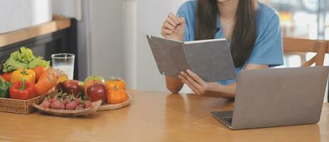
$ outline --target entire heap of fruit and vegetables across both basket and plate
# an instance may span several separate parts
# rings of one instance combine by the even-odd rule
[[[49,61],[35,57],[31,49],[22,47],[11,53],[4,62],[0,75],[0,97],[32,99],[56,89],[56,96],[46,97],[44,108],[77,110],[102,104],[119,104],[127,101],[125,81],[113,78],[104,80],[100,76],[89,76],[84,82],[68,80],[67,75],[49,66]]]

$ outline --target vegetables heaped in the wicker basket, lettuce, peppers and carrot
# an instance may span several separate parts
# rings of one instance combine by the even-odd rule
[[[0,75],[0,97],[11,99],[26,100],[46,94],[63,74],[25,47],[11,53],[3,66],[5,73]]]

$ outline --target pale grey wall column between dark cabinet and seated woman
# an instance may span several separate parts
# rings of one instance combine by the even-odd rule
[[[137,1],[83,1],[78,22],[80,78],[121,77],[136,89]]]

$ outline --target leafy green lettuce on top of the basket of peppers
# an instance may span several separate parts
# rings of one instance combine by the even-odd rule
[[[21,47],[18,51],[11,53],[10,57],[4,62],[3,72],[11,72],[19,68],[33,69],[36,66],[49,67],[49,61],[42,57],[35,57],[29,48]]]

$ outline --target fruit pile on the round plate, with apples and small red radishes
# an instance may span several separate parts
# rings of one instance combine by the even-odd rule
[[[41,107],[50,109],[78,110],[92,106],[92,102],[102,104],[119,104],[128,99],[125,82],[120,79],[104,80],[100,76],[90,76],[84,82],[61,79],[56,84],[56,95],[46,97]]]

